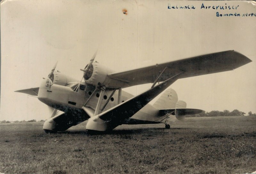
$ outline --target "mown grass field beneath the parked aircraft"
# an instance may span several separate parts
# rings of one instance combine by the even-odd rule
[[[0,124],[2,173],[252,173],[256,116],[122,125],[87,135],[82,123],[45,134],[43,122]]]

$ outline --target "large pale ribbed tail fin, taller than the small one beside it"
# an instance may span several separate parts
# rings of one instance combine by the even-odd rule
[[[152,105],[156,109],[175,108],[178,101],[178,95],[172,88],[164,91],[164,94]]]

